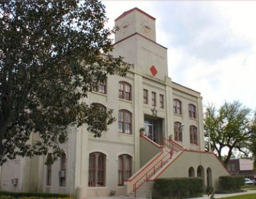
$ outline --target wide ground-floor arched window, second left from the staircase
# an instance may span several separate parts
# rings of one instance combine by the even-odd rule
[[[89,155],[89,187],[105,186],[105,165],[106,156],[100,152],[90,153]]]

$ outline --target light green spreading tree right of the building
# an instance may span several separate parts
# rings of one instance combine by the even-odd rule
[[[237,101],[225,102],[219,111],[212,105],[206,108],[206,137],[209,133],[211,149],[217,152],[224,164],[228,163],[234,150],[248,155],[248,144],[254,132],[252,124],[255,122],[255,118],[250,118],[250,112],[250,109]],[[224,150],[228,150],[228,155],[222,155]]]

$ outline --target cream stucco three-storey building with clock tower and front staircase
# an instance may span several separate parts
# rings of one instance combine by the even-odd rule
[[[131,68],[126,77],[109,76],[84,100],[113,109],[116,122],[101,138],[86,126],[69,128],[66,155],[52,166],[44,165],[43,156],[6,162],[1,190],[93,198],[111,191],[138,196],[145,189],[150,198],[155,178],[201,176],[217,189],[219,176],[228,175],[213,153],[204,152],[200,93],[167,76],[167,48],[156,43],[155,18],[133,8],[115,23],[120,30],[113,55]]]

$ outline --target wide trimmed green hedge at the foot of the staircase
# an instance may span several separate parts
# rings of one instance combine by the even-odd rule
[[[195,198],[204,191],[202,178],[159,178],[155,180],[153,198]]]

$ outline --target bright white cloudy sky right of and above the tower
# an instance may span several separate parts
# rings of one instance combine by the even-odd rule
[[[203,104],[239,100],[256,109],[256,1],[103,1],[109,27],[138,7],[156,18],[169,77]]]

